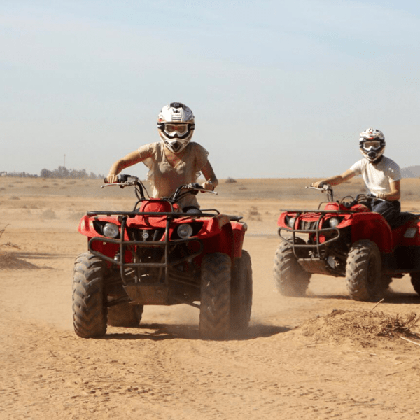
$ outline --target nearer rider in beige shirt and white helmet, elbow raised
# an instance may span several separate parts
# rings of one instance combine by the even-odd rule
[[[214,190],[218,180],[207,160],[209,152],[200,144],[192,142],[195,128],[194,114],[188,106],[172,102],[162,108],[158,116],[158,133],[161,141],[140,146],[113,163],[106,177],[109,183],[117,182],[117,174],[126,167],[144,162],[148,167],[148,181],[153,188],[153,197],[169,197],[183,184],[195,183],[200,172],[206,181],[202,187]],[[179,204],[200,207],[195,195],[184,196]]]

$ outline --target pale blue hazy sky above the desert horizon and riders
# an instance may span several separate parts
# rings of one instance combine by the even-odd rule
[[[0,0],[0,27],[0,171],[107,174],[168,102],[219,178],[344,172],[367,127],[420,165],[418,0]]]

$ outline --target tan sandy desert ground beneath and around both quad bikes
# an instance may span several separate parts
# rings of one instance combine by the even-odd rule
[[[244,216],[253,265],[249,329],[209,342],[186,306],[148,306],[139,328],[77,337],[71,277],[86,248],[78,219],[130,210],[132,190],[0,178],[0,244],[19,246],[8,251],[21,261],[0,267],[0,419],[419,419],[420,346],[398,331],[378,335],[419,311],[407,276],[377,306],[349,300],[344,279],[328,276],[314,276],[307,297],[274,290],[276,219],[280,209],[316,208],[321,195],[304,189],[309,182],[222,181],[219,195],[200,195],[204,208]],[[403,209],[420,208],[419,184],[403,181]],[[356,179],[336,194],[360,189]]]

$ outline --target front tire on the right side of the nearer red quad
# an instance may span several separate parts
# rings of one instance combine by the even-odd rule
[[[230,256],[206,255],[201,267],[200,337],[225,339],[230,327]]]

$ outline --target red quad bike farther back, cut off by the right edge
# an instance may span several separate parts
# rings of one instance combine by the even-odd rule
[[[328,193],[328,202],[313,211],[282,210],[279,216],[282,243],[274,259],[274,283],[282,295],[303,296],[311,274],[324,274],[345,277],[351,299],[377,301],[393,278],[406,273],[420,295],[418,214],[402,212],[391,229],[381,214],[362,204],[376,197],[333,201],[331,186],[313,189]]]

